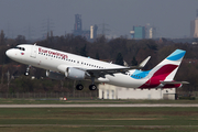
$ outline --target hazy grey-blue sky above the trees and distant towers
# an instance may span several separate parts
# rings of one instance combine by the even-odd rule
[[[6,36],[42,37],[73,33],[75,14],[81,14],[82,30],[102,23],[109,36],[130,36],[134,25],[156,29],[157,37],[189,37],[198,0],[0,0],[0,30]],[[50,23],[50,24],[47,24]]]

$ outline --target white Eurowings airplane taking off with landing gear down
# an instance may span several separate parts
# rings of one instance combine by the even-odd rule
[[[52,79],[91,80],[90,90],[96,90],[95,81],[127,88],[179,88],[187,81],[175,81],[174,77],[186,51],[176,50],[151,70],[141,70],[151,56],[143,61],[138,69],[97,61],[90,57],[52,50],[36,44],[20,44],[6,52],[11,59],[31,66],[46,69],[46,76]],[[77,90],[82,90],[79,82]]]

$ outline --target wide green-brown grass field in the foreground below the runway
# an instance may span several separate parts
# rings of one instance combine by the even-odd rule
[[[0,131],[196,132],[198,108],[3,108]]]

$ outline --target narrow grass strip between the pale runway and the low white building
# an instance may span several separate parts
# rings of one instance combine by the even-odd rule
[[[68,98],[67,101],[58,99],[16,99],[1,98],[0,105],[67,105],[67,103],[198,103],[198,100],[100,100],[91,98]]]

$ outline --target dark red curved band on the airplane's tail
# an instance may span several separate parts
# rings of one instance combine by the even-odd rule
[[[165,65],[161,67],[155,74],[140,88],[155,88],[161,81],[163,81],[174,69],[176,69],[178,65]]]

